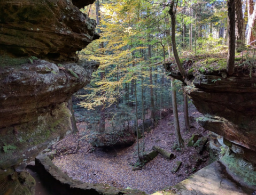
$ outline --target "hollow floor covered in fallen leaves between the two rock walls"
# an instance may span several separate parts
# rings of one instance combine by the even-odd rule
[[[195,118],[201,116],[192,104],[189,113]],[[207,135],[207,131],[199,127],[195,120],[191,124],[194,126],[191,132],[185,132],[182,107],[179,108],[179,117],[181,134],[186,145],[192,134]],[[103,150],[92,148],[87,140],[82,140],[79,143],[79,150],[76,151],[80,134],[88,131],[85,123],[79,123],[77,126],[79,128],[77,135],[69,135],[55,146],[59,155],[53,159],[53,163],[69,176],[83,182],[107,183],[117,188],[129,187],[151,194],[181,182],[208,164],[207,151],[199,155],[193,147],[186,147],[180,151],[172,149],[175,143],[173,113],[162,119],[161,129],[158,125],[150,133],[146,133],[145,150],[150,151],[153,145],[157,145],[173,152],[176,158],[168,160],[159,154],[142,170],[136,171],[131,170],[130,166],[137,160],[136,143],[129,148]],[[142,142],[142,139],[139,142]],[[69,148],[74,154],[61,154]],[[181,167],[176,173],[172,173],[170,170],[176,165],[177,160],[182,161]]]

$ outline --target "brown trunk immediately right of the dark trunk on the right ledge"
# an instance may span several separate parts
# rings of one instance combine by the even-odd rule
[[[242,0],[235,0],[236,6],[236,50],[242,52],[244,47],[244,20]]]

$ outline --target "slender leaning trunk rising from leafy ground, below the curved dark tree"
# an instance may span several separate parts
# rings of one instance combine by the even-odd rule
[[[174,116],[176,142],[177,142],[177,145],[179,145],[179,147],[184,147],[184,143],[183,143],[183,140],[181,137],[181,131],[180,131],[180,123],[179,123],[177,102],[176,102],[176,88],[175,88],[173,77],[171,78],[171,85],[172,85],[172,102],[173,102],[173,116]]]

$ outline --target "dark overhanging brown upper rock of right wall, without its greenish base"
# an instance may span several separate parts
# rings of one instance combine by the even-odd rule
[[[204,115],[201,125],[230,141],[232,150],[253,164],[256,164],[255,83],[254,75],[237,72],[223,78],[213,72],[193,77],[185,87],[193,104]]]

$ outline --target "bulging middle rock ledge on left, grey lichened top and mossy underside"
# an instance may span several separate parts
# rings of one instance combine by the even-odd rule
[[[98,63],[61,66],[35,60],[0,69],[0,145],[14,147],[1,151],[0,168],[26,164],[72,132],[64,102],[90,82]]]

